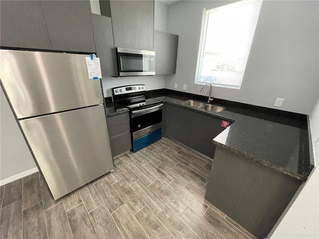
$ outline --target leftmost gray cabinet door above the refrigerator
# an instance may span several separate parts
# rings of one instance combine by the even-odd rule
[[[0,1],[1,46],[52,49],[40,1]]]

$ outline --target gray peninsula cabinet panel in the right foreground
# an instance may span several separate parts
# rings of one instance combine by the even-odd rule
[[[263,239],[300,185],[296,178],[217,146],[205,199]]]

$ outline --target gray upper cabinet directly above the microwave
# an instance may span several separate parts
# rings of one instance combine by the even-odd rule
[[[154,0],[111,0],[115,47],[153,51]]]

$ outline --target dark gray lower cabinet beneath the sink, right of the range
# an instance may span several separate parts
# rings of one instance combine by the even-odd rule
[[[222,119],[165,104],[165,136],[213,158],[216,145],[212,140],[225,128]]]

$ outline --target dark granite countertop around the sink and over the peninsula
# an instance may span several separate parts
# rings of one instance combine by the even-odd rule
[[[220,101],[213,104],[226,109],[213,113],[180,104],[185,100],[194,99],[194,96],[190,98],[171,92],[150,93],[149,96],[167,104],[233,122],[213,139],[213,143],[234,153],[302,181],[307,180],[314,167],[309,151],[307,117],[306,121],[298,117],[291,119],[220,104]]]

